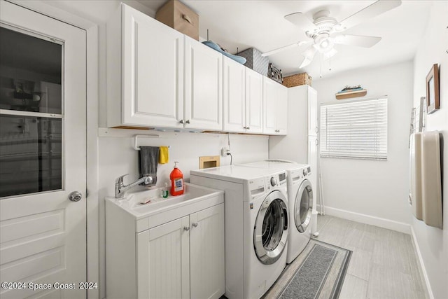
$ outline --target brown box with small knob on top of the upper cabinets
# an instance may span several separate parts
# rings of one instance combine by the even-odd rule
[[[157,13],[155,20],[199,41],[199,15],[179,0],[169,0]]]

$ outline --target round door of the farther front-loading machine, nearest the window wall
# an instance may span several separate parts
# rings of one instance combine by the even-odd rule
[[[313,210],[313,188],[311,183],[304,179],[295,195],[294,222],[299,232],[307,230],[311,222],[311,212]]]

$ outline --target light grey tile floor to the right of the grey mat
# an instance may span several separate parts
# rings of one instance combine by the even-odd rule
[[[410,235],[318,216],[316,239],[353,251],[339,299],[426,299]]]

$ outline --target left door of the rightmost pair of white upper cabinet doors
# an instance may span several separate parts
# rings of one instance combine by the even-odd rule
[[[263,76],[263,133],[276,134],[276,82]]]

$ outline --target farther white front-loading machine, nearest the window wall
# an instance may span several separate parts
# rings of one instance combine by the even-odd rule
[[[311,238],[311,215],[316,204],[311,181],[307,179],[311,174],[311,167],[287,160],[265,160],[241,166],[286,171],[290,211],[286,263],[291,263]]]

